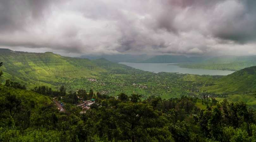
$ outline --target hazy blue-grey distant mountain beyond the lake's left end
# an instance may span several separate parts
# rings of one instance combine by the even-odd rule
[[[101,56],[83,55],[80,58],[88,58],[90,60],[105,58],[111,62],[141,62],[149,59],[150,57],[152,56],[146,55],[146,54],[142,54],[142,55],[116,54],[116,55],[101,55]]]

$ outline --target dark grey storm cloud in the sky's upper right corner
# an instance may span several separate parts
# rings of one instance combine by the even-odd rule
[[[226,1],[216,6],[218,11],[225,8],[229,8],[230,11],[219,12],[220,18],[212,20],[213,23],[218,24],[211,29],[213,35],[240,43],[254,41],[256,38],[256,2],[253,0]]]

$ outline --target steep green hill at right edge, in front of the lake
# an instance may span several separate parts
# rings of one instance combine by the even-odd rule
[[[256,92],[256,66],[244,68],[233,74],[223,76],[215,84],[214,86],[206,87],[206,90],[232,94]]]

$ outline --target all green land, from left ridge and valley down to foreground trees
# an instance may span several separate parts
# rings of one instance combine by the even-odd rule
[[[256,67],[228,76],[155,74],[104,58],[5,54],[0,141],[256,141]],[[76,106],[86,101],[94,103]]]

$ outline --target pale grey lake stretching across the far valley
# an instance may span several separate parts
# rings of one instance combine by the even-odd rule
[[[198,75],[228,75],[234,73],[229,70],[211,70],[211,69],[199,69],[199,68],[180,68],[174,64],[176,63],[132,63],[132,62],[119,62],[132,68],[141,69],[144,71],[150,71],[154,73],[169,72],[169,73],[181,73],[181,74],[198,74]]]

